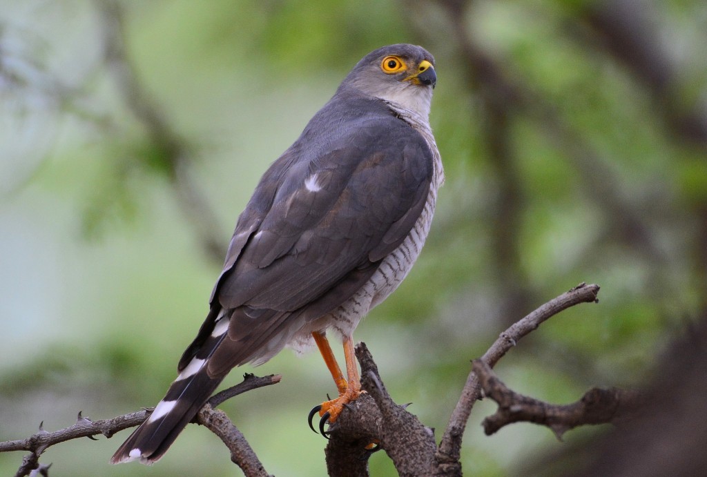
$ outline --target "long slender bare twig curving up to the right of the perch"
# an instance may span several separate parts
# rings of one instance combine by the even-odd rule
[[[542,322],[562,310],[566,310],[579,303],[597,302],[597,293],[599,293],[599,285],[580,283],[580,285],[572,288],[567,293],[563,293],[559,297],[554,298],[554,300],[550,300],[519,322],[511,325],[506,331],[503,331],[501,336],[498,337],[496,342],[493,343],[489,351],[486,351],[481,359],[489,366],[493,367],[493,365],[495,365],[510,348],[513,348],[523,336],[537,329]],[[479,377],[472,371],[467,377],[467,383],[464,384],[462,395],[452,412],[449,424],[440,442],[436,455],[438,465],[437,475],[461,475],[459,458],[462,447],[462,436],[464,435],[464,429],[471,415],[472,407],[479,397],[481,397]]]

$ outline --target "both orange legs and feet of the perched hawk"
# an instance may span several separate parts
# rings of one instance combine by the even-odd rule
[[[344,410],[344,406],[355,401],[361,394],[361,377],[358,375],[358,365],[356,365],[356,356],[354,355],[354,339],[351,336],[344,339],[344,358],[346,359],[346,377],[348,377],[348,382],[346,382],[327,338],[317,332],[312,333],[312,336],[322,353],[324,362],[327,363],[329,372],[334,377],[334,382],[337,383],[337,389],[339,389],[339,397],[323,402],[319,411],[320,416],[325,416],[328,413],[329,423],[334,423],[341,411]]]

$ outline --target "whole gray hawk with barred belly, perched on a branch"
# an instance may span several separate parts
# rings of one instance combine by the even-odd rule
[[[352,334],[410,271],[443,182],[428,122],[436,81],[422,47],[390,45],[358,61],[263,175],[180,374],[113,464],[158,461],[233,367],[285,346],[316,344],[334,377],[339,396],[313,410],[320,429],[358,397]],[[327,331],[343,342],[345,377]]]

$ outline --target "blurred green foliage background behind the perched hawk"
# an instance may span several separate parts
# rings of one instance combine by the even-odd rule
[[[659,94],[597,33],[597,12],[612,2],[476,1],[462,18],[450,16],[452,3],[117,4],[136,81],[185,153],[175,167],[105,59],[112,2],[5,1],[0,440],[30,435],[41,420],[66,427],[79,410],[97,419],[156,404],[220,270],[204,241],[225,253],[267,165],[363,54],[395,42],[436,55],[431,122],[447,182],[419,263],[356,334],[392,396],[414,402],[441,435],[469,360],[580,281],[602,285],[600,303],[544,324],[501,361],[501,378],[551,402],[649,379],[660,350],[707,308],[707,140],[676,119],[705,117],[707,6],[638,2],[645,16],[634,20],[653,28],[656,61],[670,59]],[[489,108],[512,95],[489,96],[469,42],[528,93],[505,110],[505,129]],[[507,154],[495,155],[493,141]],[[320,361],[285,351],[255,370],[281,373],[281,384],[223,406],[271,473],[325,473],[325,442],[305,424],[333,391]],[[226,384],[241,371],[252,369]],[[481,403],[469,423],[469,474],[517,473],[563,446],[532,425],[485,437],[478,424],[491,412]],[[602,428],[565,440],[593,432]],[[61,444],[42,462],[58,475],[240,475],[196,426],[153,468],[108,466],[126,435]],[[20,462],[0,455],[0,473]],[[383,453],[370,467],[395,475]]]

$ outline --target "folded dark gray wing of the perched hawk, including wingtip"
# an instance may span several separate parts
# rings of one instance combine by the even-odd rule
[[[419,218],[432,178],[424,139],[395,117],[368,119],[308,157],[298,141],[261,179],[241,214],[189,363],[228,310],[211,375],[247,362],[305,313],[315,319],[356,293]]]

